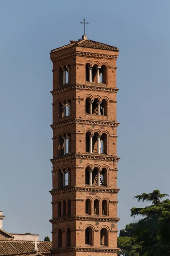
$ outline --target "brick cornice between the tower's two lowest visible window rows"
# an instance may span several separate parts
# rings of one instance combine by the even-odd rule
[[[90,216],[70,216],[70,217],[62,217],[51,219],[51,223],[57,223],[61,221],[97,221],[97,222],[118,222],[120,218],[102,218],[102,217],[90,217]]]

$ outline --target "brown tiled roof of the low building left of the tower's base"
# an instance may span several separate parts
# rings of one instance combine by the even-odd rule
[[[52,248],[52,242],[40,241],[37,244],[38,252],[40,254],[48,253]],[[34,254],[35,244],[32,241],[0,241],[0,255],[27,255]]]

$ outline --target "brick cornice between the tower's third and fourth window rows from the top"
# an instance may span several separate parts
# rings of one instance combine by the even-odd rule
[[[94,160],[94,161],[109,161],[109,162],[118,162],[120,157],[116,156],[108,156],[108,155],[101,155],[101,154],[68,154],[63,157],[56,157],[53,159],[50,159],[51,163],[57,163],[64,160],[69,160],[72,158],[77,158],[81,160]]]

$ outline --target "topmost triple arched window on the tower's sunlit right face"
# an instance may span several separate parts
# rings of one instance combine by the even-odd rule
[[[103,83],[107,84],[107,67],[106,65],[102,65],[99,67],[98,65],[91,66],[90,63],[85,65],[85,80],[88,82],[95,83]]]

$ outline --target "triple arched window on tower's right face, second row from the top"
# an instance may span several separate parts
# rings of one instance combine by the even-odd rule
[[[97,98],[91,100],[88,97],[85,100],[85,113],[107,116],[107,100],[102,99],[100,102]]]

